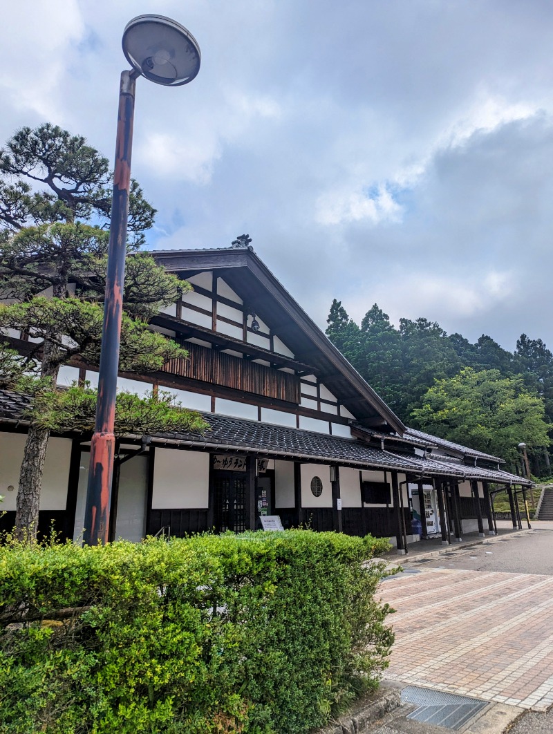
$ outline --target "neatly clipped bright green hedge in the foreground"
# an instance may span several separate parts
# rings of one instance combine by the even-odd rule
[[[2,733],[303,733],[377,686],[387,542],[0,548]]]

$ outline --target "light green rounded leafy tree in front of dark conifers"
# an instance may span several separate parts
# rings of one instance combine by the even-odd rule
[[[510,462],[521,441],[533,450],[549,445],[543,399],[529,393],[522,377],[502,377],[497,369],[465,367],[436,380],[411,415],[424,431]]]

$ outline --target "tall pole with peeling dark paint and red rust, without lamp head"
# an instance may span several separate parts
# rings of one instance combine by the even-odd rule
[[[123,312],[123,283],[129,189],[131,185],[132,127],[134,120],[134,87],[137,71],[123,71],[119,90],[119,114],[115,142],[112,217],[109,227],[109,250],[104,302],[104,325],[95,431],[90,445],[87,506],[84,515],[84,542],[99,545],[109,537],[109,505],[112,492],[113,459],[115,454],[115,395],[119,366],[121,315]]]

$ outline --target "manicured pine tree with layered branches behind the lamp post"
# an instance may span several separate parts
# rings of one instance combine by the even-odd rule
[[[18,363],[21,371],[34,369],[40,377],[37,399],[54,394],[62,364],[77,357],[98,364],[111,180],[107,160],[83,137],[48,124],[22,128],[0,151],[0,327],[37,340]],[[129,208],[120,366],[143,372],[186,355],[175,342],[149,330],[147,321],[189,285],[137,250],[155,210],[135,181]],[[16,362],[12,355],[11,382]],[[21,539],[34,539],[37,530],[50,434],[38,415],[31,418],[19,477],[16,528]]]

